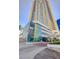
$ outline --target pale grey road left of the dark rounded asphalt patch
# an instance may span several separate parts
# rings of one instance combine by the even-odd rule
[[[20,47],[19,49],[19,59],[33,59],[34,56],[40,51],[44,50],[46,47],[25,45],[25,47]]]

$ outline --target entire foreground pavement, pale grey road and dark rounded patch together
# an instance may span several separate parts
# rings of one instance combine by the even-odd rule
[[[25,44],[20,44],[19,47],[19,59],[60,59],[59,56],[58,52],[50,50],[47,47]]]

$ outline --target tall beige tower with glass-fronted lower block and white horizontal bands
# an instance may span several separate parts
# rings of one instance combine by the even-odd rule
[[[46,41],[58,32],[48,0],[34,0],[29,23],[27,41]]]

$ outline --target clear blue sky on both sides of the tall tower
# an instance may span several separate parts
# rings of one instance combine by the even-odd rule
[[[60,0],[50,0],[52,14],[57,20],[60,18]],[[19,0],[19,24],[25,26],[29,21],[32,0]]]

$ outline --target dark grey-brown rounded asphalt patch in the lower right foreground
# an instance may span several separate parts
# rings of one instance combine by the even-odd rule
[[[46,48],[39,52],[34,59],[60,59],[60,53]]]

